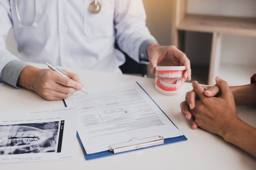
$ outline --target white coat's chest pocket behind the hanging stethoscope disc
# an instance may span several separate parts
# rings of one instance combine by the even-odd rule
[[[115,0],[98,0],[101,11],[93,14],[89,4],[93,0],[84,0],[84,32],[87,37],[108,37],[114,34]]]

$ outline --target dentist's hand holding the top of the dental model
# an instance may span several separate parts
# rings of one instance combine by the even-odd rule
[[[176,46],[160,46],[150,44],[147,47],[149,56],[149,67],[152,74],[156,73],[156,66],[185,66],[184,80],[191,80],[190,61],[186,54]]]

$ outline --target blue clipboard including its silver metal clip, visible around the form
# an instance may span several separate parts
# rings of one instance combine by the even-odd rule
[[[136,82],[139,87],[149,96],[149,94],[141,87],[141,85]],[[149,98],[151,98],[149,96]],[[156,104],[156,102],[151,98],[151,100]],[[67,107],[65,100],[63,100],[65,107]],[[156,106],[165,114],[165,112],[156,104]],[[171,121],[171,119],[165,114],[165,116]],[[172,124],[174,124],[171,121]],[[178,129],[178,127],[174,124],[174,126]],[[121,153],[127,153],[131,151],[136,151],[136,150],[141,150],[145,148],[151,148],[151,147],[156,147],[160,145],[166,145],[166,144],[172,144],[176,142],[183,142],[187,140],[187,137],[185,135],[181,135],[178,137],[171,137],[171,138],[166,138],[162,136],[153,136],[153,137],[146,137],[146,138],[138,138],[134,137],[130,139],[129,141],[118,143],[118,144],[111,144],[110,145],[110,150],[102,151],[99,153],[93,153],[93,154],[87,154],[85,151],[85,148],[82,144],[82,141],[79,137],[78,132],[76,133],[76,136],[78,138],[78,142],[82,148],[82,152],[85,155],[86,160],[91,160],[91,159],[98,159],[102,157],[108,157],[111,155],[118,155]],[[136,140],[136,141],[135,141]]]

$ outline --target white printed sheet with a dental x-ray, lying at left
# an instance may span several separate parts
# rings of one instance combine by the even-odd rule
[[[73,159],[75,109],[1,111],[0,163]]]

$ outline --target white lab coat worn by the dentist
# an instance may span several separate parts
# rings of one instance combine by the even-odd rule
[[[120,72],[125,57],[120,48],[139,61],[143,41],[155,40],[145,26],[142,0],[98,0],[102,11],[88,11],[92,0],[36,0],[37,27],[19,27],[15,0],[0,0],[0,71],[9,61],[17,59],[5,46],[13,28],[22,61],[52,63],[65,67]],[[31,24],[34,1],[18,0],[24,24]]]

